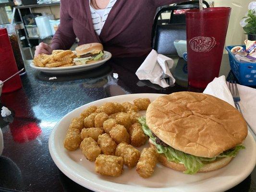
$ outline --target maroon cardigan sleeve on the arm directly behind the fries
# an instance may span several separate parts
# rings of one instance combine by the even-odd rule
[[[70,49],[75,41],[73,31],[73,19],[69,15],[68,6],[69,0],[61,0],[61,23],[53,36],[52,49]]]

